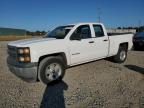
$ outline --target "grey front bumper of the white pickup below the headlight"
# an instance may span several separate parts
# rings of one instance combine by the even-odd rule
[[[9,70],[24,81],[37,81],[37,63],[18,63],[8,57],[7,64]]]

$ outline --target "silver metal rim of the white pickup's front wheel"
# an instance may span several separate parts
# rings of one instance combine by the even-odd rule
[[[53,81],[61,76],[61,66],[58,63],[52,63],[46,67],[45,76],[48,80]]]

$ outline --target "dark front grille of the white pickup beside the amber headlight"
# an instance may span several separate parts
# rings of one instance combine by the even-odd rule
[[[17,48],[16,47],[8,45],[7,46],[7,52],[8,52],[8,55],[11,59],[16,60],[16,58],[17,58]]]

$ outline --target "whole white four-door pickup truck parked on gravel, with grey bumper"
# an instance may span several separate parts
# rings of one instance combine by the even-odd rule
[[[61,80],[70,66],[113,57],[126,60],[133,34],[108,36],[101,23],[59,26],[42,38],[8,43],[7,64],[20,78],[45,84]]]

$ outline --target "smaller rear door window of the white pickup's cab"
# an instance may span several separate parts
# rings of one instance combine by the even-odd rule
[[[101,25],[93,25],[93,27],[94,27],[96,37],[103,37],[104,36],[103,28]]]

